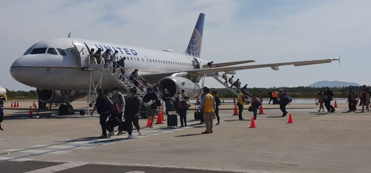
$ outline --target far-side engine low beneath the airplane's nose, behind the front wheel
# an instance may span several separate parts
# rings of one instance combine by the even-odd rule
[[[37,89],[36,94],[40,101],[44,103],[66,103],[76,99],[84,98],[85,91],[61,91],[50,89]]]

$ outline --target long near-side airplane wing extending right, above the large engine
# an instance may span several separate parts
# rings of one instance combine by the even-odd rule
[[[188,75],[190,76],[200,76],[200,75],[204,75],[208,73],[257,69],[257,68],[265,68],[265,67],[271,67],[273,70],[279,70],[279,66],[285,66],[285,65],[305,66],[305,65],[330,63],[332,61],[340,62],[340,59],[323,59],[323,60],[296,61],[296,62],[284,62],[284,63],[260,64],[260,65],[216,67],[216,68],[193,69],[193,70],[185,70],[185,71],[158,72],[158,73],[142,74],[140,76],[143,78],[155,78],[155,79],[160,80],[166,76],[171,76],[172,74],[181,73],[181,72],[187,72]]]

